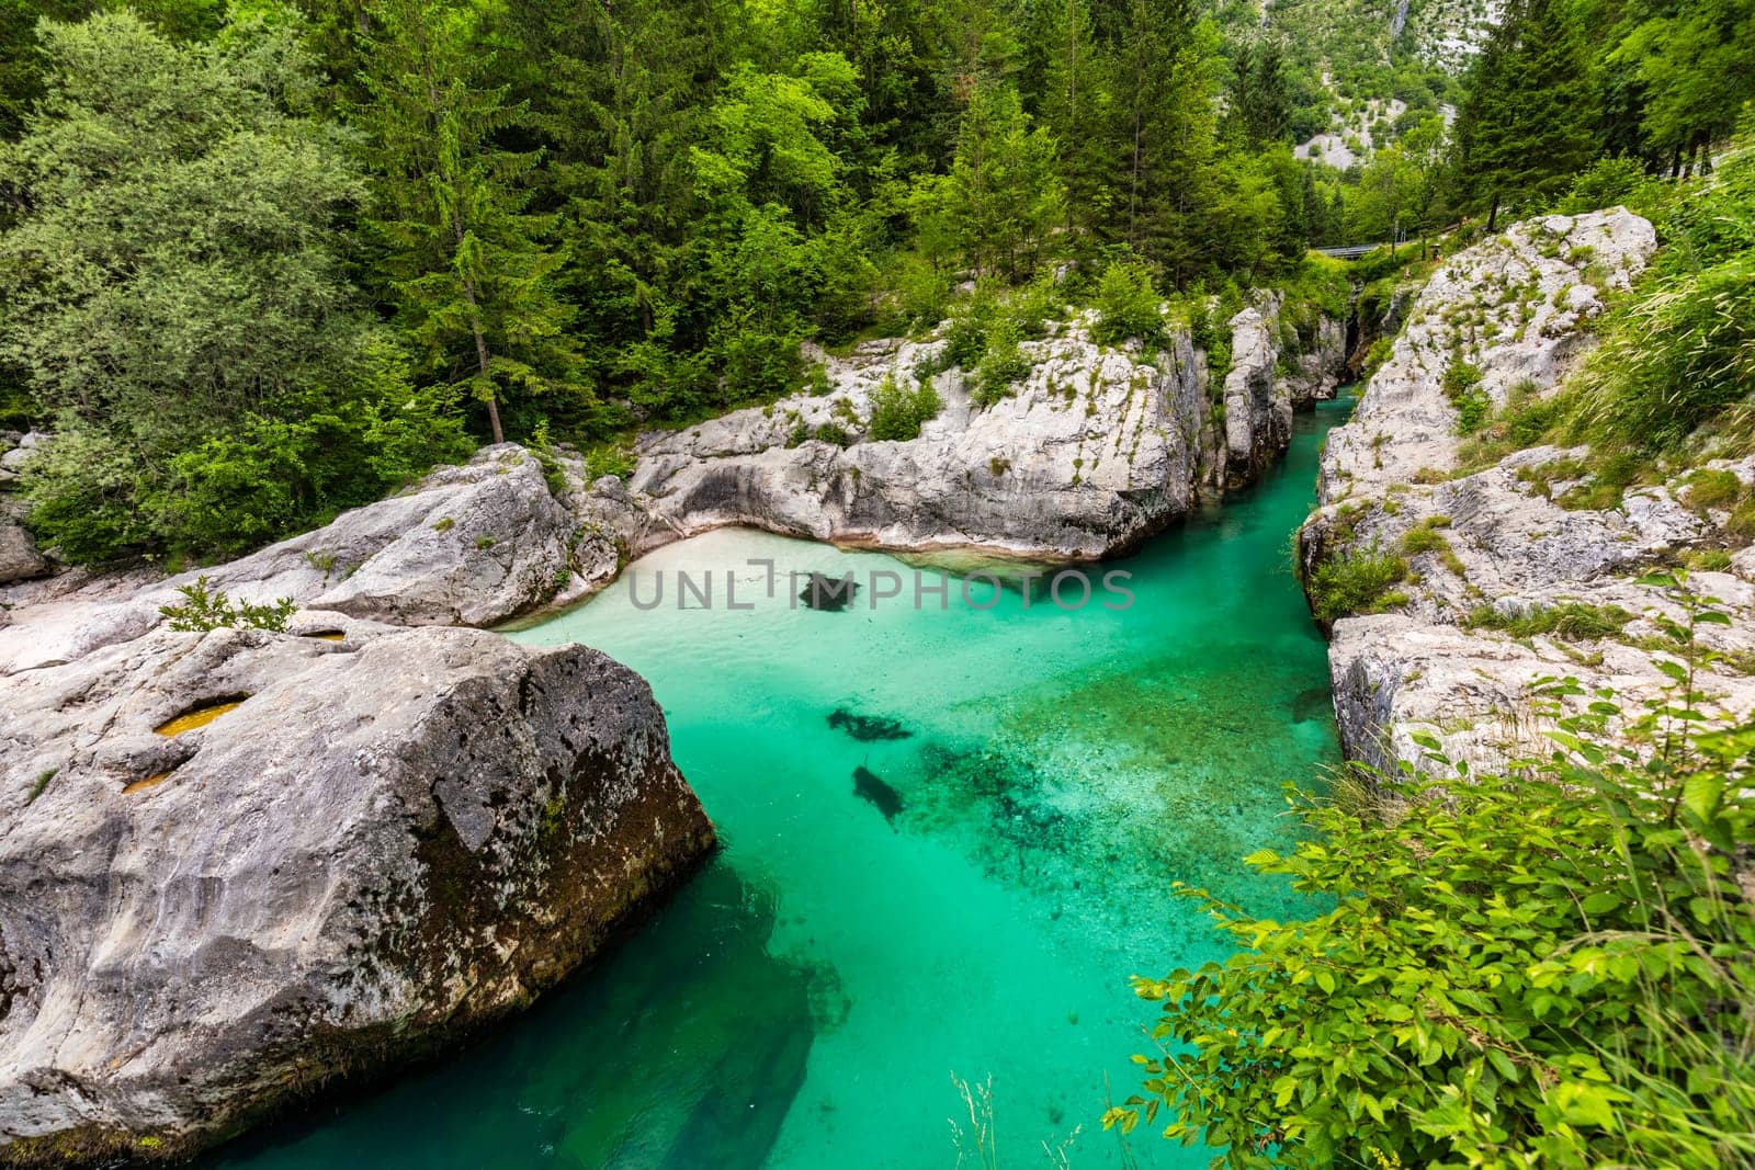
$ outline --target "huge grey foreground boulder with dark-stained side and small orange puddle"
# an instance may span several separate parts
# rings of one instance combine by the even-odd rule
[[[446,1044],[711,845],[597,651],[305,623],[346,640],[158,631],[0,679],[0,1163],[183,1154]]]

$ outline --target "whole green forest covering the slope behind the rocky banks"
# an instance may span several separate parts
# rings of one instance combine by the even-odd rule
[[[1699,174],[1755,40],[1748,0],[1513,0],[1446,68],[1393,7],[4,0],[32,526],[207,560],[483,440],[612,468],[951,312],[1004,393],[1067,303],[1236,307],[1311,246]],[[1327,128],[1374,149],[1295,156]]]

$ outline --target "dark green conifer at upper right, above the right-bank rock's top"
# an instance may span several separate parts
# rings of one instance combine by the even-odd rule
[[[1553,195],[1597,151],[1583,39],[1558,0],[1511,0],[1469,75],[1457,177],[1488,203]]]

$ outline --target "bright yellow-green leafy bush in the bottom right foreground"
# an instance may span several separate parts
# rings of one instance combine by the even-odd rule
[[[1476,774],[1416,733],[1364,816],[1297,795],[1309,842],[1248,861],[1332,909],[1186,895],[1239,952],[1137,982],[1160,1051],[1106,1124],[1167,1114],[1228,1166],[1746,1165],[1755,724],[1702,710],[1694,658],[1630,709],[1550,682],[1578,705],[1546,760]]]

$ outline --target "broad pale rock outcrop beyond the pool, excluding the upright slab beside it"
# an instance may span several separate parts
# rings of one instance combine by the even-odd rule
[[[648,437],[630,488],[656,521],[649,539],[751,524],[892,549],[1095,558],[1188,509],[1204,365],[1186,337],[1158,363],[1081,335],[1027,342],[1035,367],[995,405],[976,407],[962,372],[946,370],[920,439],[867,440],[885,377],[913,384],[941,346],[867,346],[830,363],[832,395]],[[830,423],[853,444],[788,446]]]

